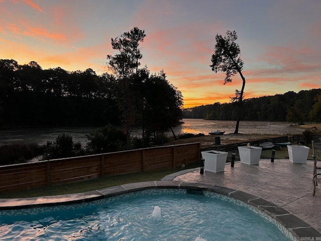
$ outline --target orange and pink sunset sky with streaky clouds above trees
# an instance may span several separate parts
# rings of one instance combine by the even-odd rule
[[[238,35],[245,98],[321,88],[320,0],[0,0],[0,59],[43,69],[107,71],[111,38],[138,27],[141,66],[162,69],[184,107],[229,102],[211,70],[215,35]]]

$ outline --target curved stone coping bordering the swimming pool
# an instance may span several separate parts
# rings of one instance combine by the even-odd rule
[[[204,190],[226,195],[256,207],[260,211],[266,213],[267,215],[278,221],[280,224],[282,224],[297,238],[297,240],[321,240],[321,233],[310,226],[308,223],[304,222],[284,208],[279,207],[255,195],[218,185],[175,180],[173,181],[173,179],[166,180],[172,178],[174,175],[178,176],[182,173],[188,173],[195,170],[197,170],[197,168],[182,170],[178,173],[166,176],[164,178],[165,180],[162,179],[161,181],[128,183],[120,186],[108,187],[84,193],[31,198],[1,198],[0,211],[89,202],[102,198],[117,196],[120,194],[157,188]]]

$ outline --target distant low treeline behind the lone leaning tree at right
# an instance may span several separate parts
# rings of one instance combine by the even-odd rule
[[[302,123],[320,121],[313,105],[318,102],[321,89],[301,90],[298,93],[288,91],[284,94],[263,96],[243,100],[243,121],[288,121]],[[204,118],[235,121],[237,102],[201,105],[184,109],[184,118]],[[314,107],[316,107],[314,105]],[[314,110],[312,113],[311,110]],[[318,110],[319,111],[319,110]]]

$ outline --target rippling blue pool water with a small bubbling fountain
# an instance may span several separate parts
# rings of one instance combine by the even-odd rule
[[[72,205],[0,215],[0,239],[290,240],[246,206],[218,197],[161,193]]]

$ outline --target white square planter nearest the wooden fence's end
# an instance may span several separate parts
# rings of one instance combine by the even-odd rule
[[[205,160],[204,170],[209,172],[224,172],[227,152],[204,151],[202,158]]]

